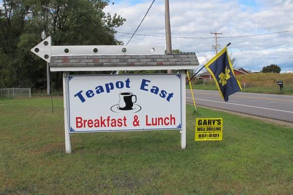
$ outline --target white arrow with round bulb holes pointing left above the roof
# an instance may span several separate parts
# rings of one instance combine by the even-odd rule
[[[51,46],[51,37],[44,39],[31,52],[50,63],[51,56],[97,55],[164,55],[165,46],[126,45],[70,45]]]

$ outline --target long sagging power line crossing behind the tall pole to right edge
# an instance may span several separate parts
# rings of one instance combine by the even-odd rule
[[[240,38],[240,37],[255,37],[255,36],[264,36],[264,35],[273,35],[273,34],[280,34],[280,33],[288,33],[292,32],[293,30],[287,30],[287,31],[281,31],[281,32],[273,32],[273,33],[263,33],[263,34],[255,34],[255,35],[240,35],[240,36],[229,36],[229,37],[219,37],[219,38]],[[126,32],[119,32],[120,34],[126,34],[126,35],[132,35],[132,33],[126,33]],[[135,33],[134,33],[135,34]],[[134,35],[133,34],[133,35]],[[166,38],[166,36],[163,35],[145,35],[145,34],[135,34],[139,36],[146,36],[146,37],[160,37],[160,38]],[[172,38],[178,38],[178,39],[214,39],[214,37],[176,37],[172,36]]]

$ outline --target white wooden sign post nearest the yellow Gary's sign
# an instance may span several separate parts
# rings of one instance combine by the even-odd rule
[[[182,130],[180,130],[181,133],[181,148],[186,148],[186,70],[180,70],[181,73],[181,87],[182,87]]]

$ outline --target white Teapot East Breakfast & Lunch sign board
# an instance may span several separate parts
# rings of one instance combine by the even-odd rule
[[[70,75],[69,131],[182,129],[182,75]]]

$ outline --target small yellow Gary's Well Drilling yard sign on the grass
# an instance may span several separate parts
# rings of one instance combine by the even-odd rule
[[[196,118],[195,141],[222,140],[223,118]]]

